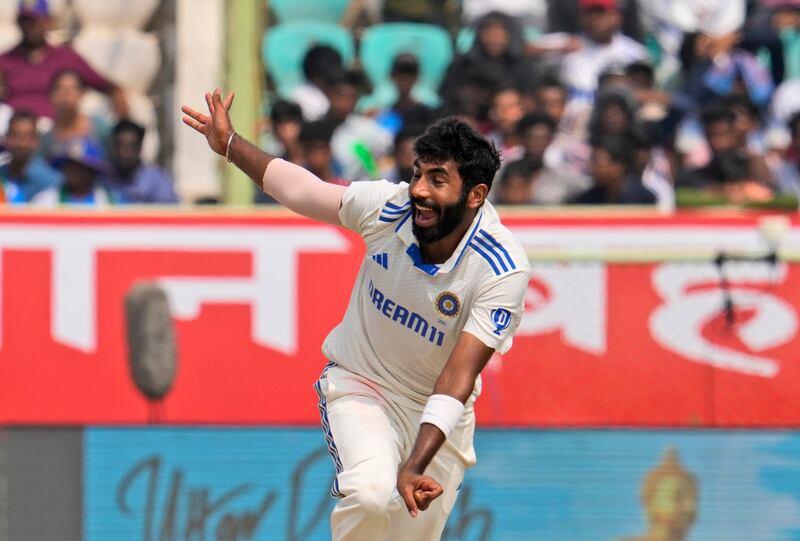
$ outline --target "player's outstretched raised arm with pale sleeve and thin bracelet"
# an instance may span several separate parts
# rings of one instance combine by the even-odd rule
[[[300,166],[267,154],[240,137],[228,109],[233,92],[223,101],[219,89],[206,94],[210,116],[184,105],[183,123],[205,136],[211,150],[241,169],[259,188],[286,208],[321,222],[341,225],[339,206],[345,188],[329,184]]]

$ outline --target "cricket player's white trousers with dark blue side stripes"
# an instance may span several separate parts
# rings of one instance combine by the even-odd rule
[[[331,493],[340,498],[331,513],[333,541],[438,541],[464,472],[475,464],[472,408],[425,470],[444,493],[412,519],[396,489],[397,472],[416,440],[422,407],[332,363],[315,387],[336,467]]]

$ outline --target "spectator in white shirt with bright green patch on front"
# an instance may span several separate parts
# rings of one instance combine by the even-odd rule
[[[330,109],[326,119],[335,126],[331,148],[342,166],[342,175],[349,180],[369,180],[379,173],[378,162],[392,147],[392,134],[369,117],[354,113],[365,85],[355,71],[340,74],[329,89]]]

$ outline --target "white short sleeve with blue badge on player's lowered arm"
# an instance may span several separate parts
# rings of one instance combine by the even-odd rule
[[[522,319],[529,279],[526,268],[487,283],[478,292],[464,331],[498,353],[506,353]]]

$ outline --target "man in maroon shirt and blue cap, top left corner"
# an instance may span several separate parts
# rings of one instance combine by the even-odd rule
[[[50,11],[46,0],[20,1],[17,23],[22,40],[0,55],[0,73],[5,79],[8,105],[53,118],[53,107],[48,99],[53,78],[59,72],[70,70],[80,74],[86,85],[110,95],[118,116],[127,114],[127,102],[120,88],[98,75],[71,47],[47,44],[45,32],[50,26]]]

